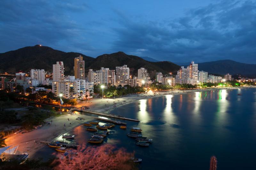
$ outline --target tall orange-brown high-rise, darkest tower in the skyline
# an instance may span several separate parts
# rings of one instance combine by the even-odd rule
[[[74,60],[74,72],[75,78],[84,80],[84,60],[83,56],[81,55],[79,55],[79,57],[76,57]]]

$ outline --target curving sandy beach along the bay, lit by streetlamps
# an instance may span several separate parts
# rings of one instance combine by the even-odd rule
[[[237,88],[246,88],[246,87],[237,87]],[[111,110],[124,106],[126,104],[137,102],[141,99],[148,99],[152,97],[159,97],[164,96],[167,94],[182,94],[188,92],[198,92],[198,91],[211,91],[211,90],[220,90],[220,89],[237,89],[237,88],[209,88],[209,89],[198,89],[198,90],[186,90],[186,91],[168,91],[168,92],[156,92],[155,94],[133,94],[122,98],[116,99],[100,99],[96,98],[93,99],[92,102],[81,102],[78,103],[76,107],[88,106],[90,107],[89,110],[97,111],[97,112],[104,112],[109,113]],[[115,107],[114,107],[115,105]],[[76,117],[83,117],[85,120],[76,120]],[[68,121],[68,119],[70,121]],[[11,137],[8,137],[5,142],[9,145],[19,145],[17,153],[28,153],[30,158],[33,158],[36,151],[38,151],[43,145],[40,141],[52,141],[54,138],[58,137],[59,135],[75,128],[76,126],[81,125],[84,122],[94,120],[93,116],[86,116],[86,115],[70,115],[64,114],[58,117],[50,117],[45,119],[46,121],[52,121],[51,125],[44,125],[38,129],[35,129],[28,133],[18,133]],[[64,126],[64,123],[66,126]],[[71,123],[71,124],[70,124]]]

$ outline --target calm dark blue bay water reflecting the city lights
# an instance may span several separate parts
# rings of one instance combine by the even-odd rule
[[[139,119],[127,129],[110,129],[105,142],[135,151],[140,169],[205,170],[215,155],[218,170],[256,169],[256,88],[166,95],[116,108],[112,114]],[[242,95],[237,95],[237,94]],[[140,147],[127,137],[131,127],[153,139]],[[92,135],[79,126],[76,141]]]

